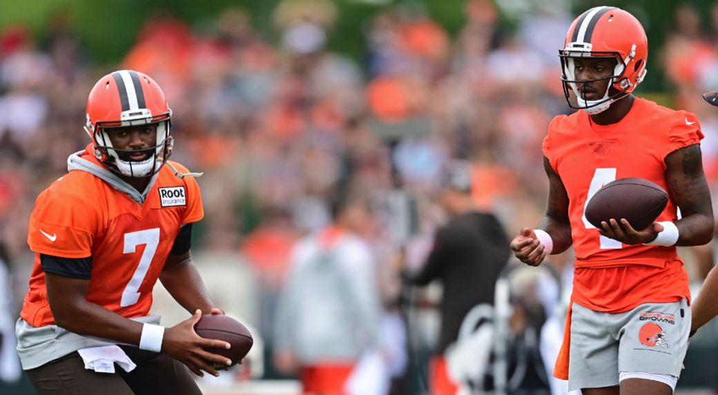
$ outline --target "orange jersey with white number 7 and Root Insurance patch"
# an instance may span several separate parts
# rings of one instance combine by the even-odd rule
[[[83,159],[99,164],[91,146]],[[142,205],[95,175],[69,172],[35,201],[27,242],[36,256],[21,317],[34,327],[55,323],[39,254],[92,256],[88,301],[127,318],[148,315],[152,288],[180,227],[203,215],[197,181],[180,179],[167,166]]]

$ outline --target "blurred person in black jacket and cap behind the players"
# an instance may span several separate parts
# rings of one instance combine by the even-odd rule
[[[432,394],[445,395],[472,388],[472,377],[457,373],[465,368],[452,363],[476,362],[459,361],[452,353],[462,347],[457,340],[467,313],[477,305],[493,305],[496,280],[509,250],[497,218],[476,209],[470,164],[453,162],[442,175],[442,182],[440,202],[451,220],[437,231],[426,264],[418,272],[407,274],[407,279],[420,286],[433,280],[442,282],[442,329],[432,358],[431,388]]]

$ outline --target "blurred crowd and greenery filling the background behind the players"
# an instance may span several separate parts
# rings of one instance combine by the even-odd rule
[[[712,1],[2,1],[0,241],[14,299],[0,301],[1,313],[14,320],[27,289],[34,198],[88,143],[89,89],[134,68],[158,80],[174,110],[173,159],[205,172],[193,247],[205,280],[264,338],[264,379],[284,378],[269,358],[271,306],[287,251],[326,223],[332,192],[375,203],[366,236],[386,300],[401,288],[398,246],[416,266],[442,221],[432,197],[450,159],[472,162],[477,202],[508,233],[538,221],[541,139],[551,117],[569,111],[557,50],[573,17],[597,5],[644,24],[638,96],[699,116],[715,189],[718,112],[699,95],[718,88]],[[397,190],[417,199],[416,226],[397,224]],[[697,290],[712,246],[683,256]],[[428,333],[429,347],[427,322],[412,330]],[[709,327],[691,345],[682,391],[718,388],[717,333]],[[0,383],[0,393],[32,391],[21,380]]]

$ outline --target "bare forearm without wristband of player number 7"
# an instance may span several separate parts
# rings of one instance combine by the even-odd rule
[[[203,314],[210,314],[210,310],[215,307],[192,261],[185,261],[162,271],[159,280],[174,300],[190,314],[197,309],[202,310]]]

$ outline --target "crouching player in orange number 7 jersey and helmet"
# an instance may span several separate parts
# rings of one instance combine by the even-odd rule
[[[190,257],[204,215],[199,174],[168,160],[171,116],[149,76],[105,75],[88,98],[92,142],[35,202],[36,258],[16,332],[41,394],[200,394],[189,371],[218,375],[230,363],[205,350],[228,343],[193,329],[223,312]],[[157,279],[192,317],[159,325],[149,313]]]

